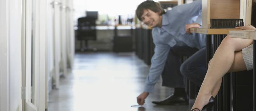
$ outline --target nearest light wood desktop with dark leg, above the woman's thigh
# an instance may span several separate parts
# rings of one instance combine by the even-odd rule
[[[240,31],[229,31],[229,37],[253,39],[253,111],[256,111],[256,73],[255,73],[255,48],[256,48],[256,30],[240,30]]]

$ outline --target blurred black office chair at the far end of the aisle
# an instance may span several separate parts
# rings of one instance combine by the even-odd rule
[[[88,40],[96,40],[96,18],[94,17],[81,17],[78,18],[77,39],[80,41],[80,50],[93,50],[96,48],[90,48],[88,46]],[[83,41],[85,41],[85,47],[83,47]]]

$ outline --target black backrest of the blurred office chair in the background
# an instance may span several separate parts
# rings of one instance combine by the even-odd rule
[[[96,40],[96,19],[93,17],[78,18],[77,38],[79,40]]]

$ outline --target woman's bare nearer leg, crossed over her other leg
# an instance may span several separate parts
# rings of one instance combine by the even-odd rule
[[[201,110],[204,105],[208,103],[211,95],[217,95],[222,76],[225,75],[231,68],[234,70],[234,68],[237,66],[236,62],[241,62],[241,59],[243,59],[242,56],[240,56],[240,60],[234,61],[235,51],[241,51],[250,44],[252,44],[252,40],[249,39],[230,38],[229,36],[225,37],[211,60],[208,71],[204,78],[204,82],[199,90],[197,99],[192,109],[199,108]],[[232,65],[233,63],[236,64]]]

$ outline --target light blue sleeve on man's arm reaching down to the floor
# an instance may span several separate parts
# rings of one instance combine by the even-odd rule
[[[149,75],[146,78],[144,92],[152,93],[156,82],[160,79],[170,50],[169,45],[156,44],[155,54],[151,58]]]

